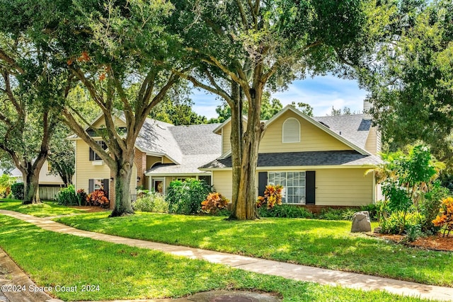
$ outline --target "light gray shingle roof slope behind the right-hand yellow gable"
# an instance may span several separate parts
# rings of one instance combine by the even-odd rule
[[[364,120],[363,117],[364,115],[333,115],[313,117],[313,119],[326,124],[336,134],[340,134],[352,144],[365,149],[372,120]]]

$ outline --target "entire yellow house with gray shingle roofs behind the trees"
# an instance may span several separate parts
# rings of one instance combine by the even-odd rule
[[[122,117],[115,123],[125,127]],[[283,185],[285,203],[312,211],[360,206],[379,198],[374,174],[366,172],[382,162],[381,138],[367,115],[309,117],[289,105],[265,124],[253,184],[258,194],[270,183]],[[91,128],[104,125],[99,117]],[[230,134],[230,120],[173,126],[147,119],[135,144],[131,194],[137,194],[139,186],[165,194],[172,180],[197,178],[231,199]],[[112,200],[110,169],[79,137],[69,139],[76,145],[76,189],[89,193],[102,186]],[[95,139],[103,144],[100,137]]]

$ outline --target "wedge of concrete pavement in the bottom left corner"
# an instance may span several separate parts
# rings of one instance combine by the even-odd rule
[[[8,287],[10,286],[11,290],[5,290],[3,292],[4,296],[8,298],[11,302],[63,302],[62,300],[52,298],[44,291],[33,292],[28,289],[35,289],[36,284],[31,281],[30,278],[19,268],[13,260],[0,248],[0,267],[3,267],[7,271],[7,275],[10,278],[1,279],[0,286]],[[16,286],[25,286],[25,291],[18,291]]]

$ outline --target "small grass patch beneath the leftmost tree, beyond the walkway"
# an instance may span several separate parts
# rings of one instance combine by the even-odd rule
[[[82,209],[60,206],[56,202],[43,202],[42,204],[22,204],[17,199],[0,199],[0,209],[18,211],[23,214],[37,217],[51,217],[58,215],[85,213]]]

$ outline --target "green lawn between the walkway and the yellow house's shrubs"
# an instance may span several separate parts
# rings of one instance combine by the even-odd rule
[[[350,221],[107,213],[55,219],[76,228],[265,259],[453,286],[452,252],[407,248],[350,233]]]

